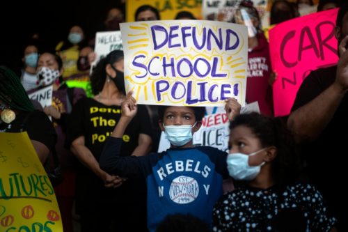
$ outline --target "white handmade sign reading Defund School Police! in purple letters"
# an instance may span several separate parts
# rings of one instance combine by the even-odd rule
[[[120,24],[125,87],[140,104],[244,105],[246,26],[172,20]]]

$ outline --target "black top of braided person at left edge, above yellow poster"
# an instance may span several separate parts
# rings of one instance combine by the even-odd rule
[[[9,129],[8,125],[10,125]],[[45,144],[51,151],[56,144],[54,127],[47,115],[39,110],[20,112],[12,123],[1,123],[0,130],[6,130],[5,132],[26,131],[31,140]]]

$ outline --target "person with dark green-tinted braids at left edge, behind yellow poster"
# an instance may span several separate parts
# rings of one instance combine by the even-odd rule
[[[56,144],[56,132],[42,111],[34,110],[19,77],[0,66],[0,132],[26,131],[42,164]]]

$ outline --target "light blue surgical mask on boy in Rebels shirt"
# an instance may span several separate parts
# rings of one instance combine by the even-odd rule
[[[196,122],[197,123],[197,122]],[[164,125],[164,134],[174,146],[184,146],[192,139],[193,125]]]

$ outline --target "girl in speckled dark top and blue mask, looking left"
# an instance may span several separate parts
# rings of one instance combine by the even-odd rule
[[[231,123],[228,172],[235,190],[213,210],[213,231],[335,231],[322,195],[301,183],[301,163],[280,118],[241,114]]]

